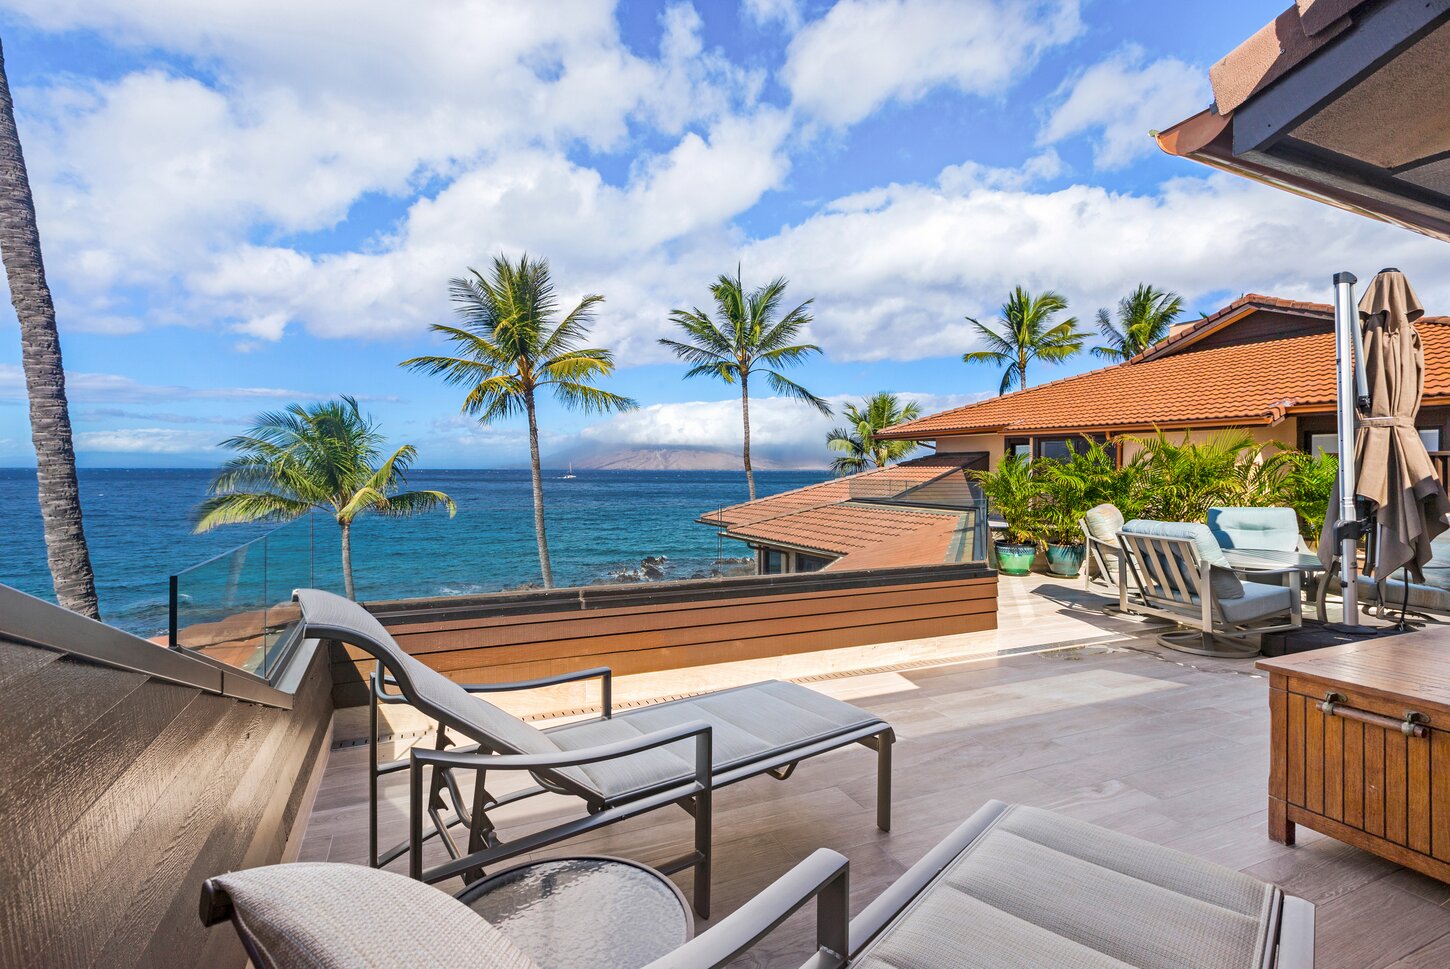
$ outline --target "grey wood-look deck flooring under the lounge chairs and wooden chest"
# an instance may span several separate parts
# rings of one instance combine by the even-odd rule
[[[1248,660],[1159,648],[1146,627],[1106,618],[1061,583],[1003,580],[1000,648],[1034,631],[1082,627],[1115,641],[929,669],[813,682],[890,721],[893,830],[874,825],[874,756],[850,749],[716,796],[715,914],[725,915],[816,847],[851,860],[858,911],[982,802],[998,798],[1093,821],[1273,881],[1318,905],[1320,969],[1450,966],[1450,886],[1299,828],[1299,846],[1266,834],[1267,683]],[[977,634],[987,635],[987,634]],[[365,749],[334,750],[303,860],[364,862]],[[384,841],[405,836],[406,779],[387,789]],[[505,837],[571,811],[538,798],[505,814]],[[621,854],[660,863],[683,853],[690,821],[661,811],[552,854]],[[689,891],[690,875],[679,876]],[[798,915],[737,965],[795,969],[811,952]],[[700,925],[703,928],[703,925]]]

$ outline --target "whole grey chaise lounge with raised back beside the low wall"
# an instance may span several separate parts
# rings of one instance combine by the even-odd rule
[[[655,704],[613,715],[610,672],[581,670],[523,683],[455,683],[409,656],[367,609],[349,599],[300,589],[302,622],[309,638],[338,640],[371,654],[378,666],[370,689],[371,759],[368,779],[368,859],[374,867],[409,854],[409,873],[436,882],[457,875],[477,876],[484,866],[534,852],[628,817],[677,804],[695,817],[695,850],[664,866],[666,872],[695,867],[695,910],[709,917],[710,805],[718,788],[768,773],[787,779],[796,764],[848,744],[876,750],[876,824],[890,830],[890,724],[858,706],[795,683],[751,686]],[[480,693],[532,689],[581,679],[599,679],[602,717],[536,727],[481,699]],[[392,692],[396,689],[397,692]],[[438,722],[434,750],[415,747],[406,760],[378,764],[378,702],[406,702]],[[455,746],[450,731],[467,738]],[[377,850],[377,780],[407,770],[409,838],[381,854]],[[536,786],[492,795],[487,773],[526,772]],[[473,796],[458,785],[460,772],[474,772]],[[429,775],[425,791],[423,776]],[[583,799],[587,817],[557,824],[513,841],[500,841],[489,814],[544,792]],[[445,817],[451,811],[452,817]],[[423,818],[432,821],[425,837]],[[450,828],[468,830],[460,847]],[[423,869],[423,841],[439,837],[450,862]]]

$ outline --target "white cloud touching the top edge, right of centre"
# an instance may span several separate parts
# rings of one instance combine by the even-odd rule
[[[932,88],[996,94],[1082,30],[1077,0],[841,0],[790,42],[783,80],[828,125]]]

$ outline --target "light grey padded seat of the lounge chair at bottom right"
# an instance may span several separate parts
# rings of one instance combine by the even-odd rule
[[[1253,969],[1273,886],[1014,807],[867,946],[854,969]]]

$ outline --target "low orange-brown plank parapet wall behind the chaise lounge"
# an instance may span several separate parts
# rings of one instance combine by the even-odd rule
[[[413,656],[460,682],[608,666],[652,673],[996,628],[982,564],[589,586],[370,608]],[[365,653],[334,647],[338,706],[367,701]]]

